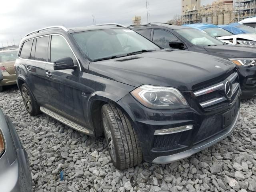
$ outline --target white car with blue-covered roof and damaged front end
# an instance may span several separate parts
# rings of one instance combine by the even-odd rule
[[[245,45],[256,45],[256,34],[238,34],[234,35],[231,32],[222,29],[216,25],[212,24],[188,24],[184,25],[199,30],[203,30],[208,33],[210,36],[222,40],[222,42],[227,44],[245,44]]]

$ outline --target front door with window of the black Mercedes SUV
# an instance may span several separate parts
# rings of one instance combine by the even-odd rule
[[[50,60],[45,66],[46,85],[50,94],[47,108],[80,125],[85,125],[84,110],[80,104],[79,75],[81,71],[78,66],[78,60],[66,39],[61,35],[52,35],[49,47]],[[71,57],[77,68],[54,70],[53,62],[63,57]]]

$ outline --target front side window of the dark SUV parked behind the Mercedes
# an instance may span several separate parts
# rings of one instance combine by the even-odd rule
[[[178,39],[168,31],[154,30],[153,42],[163,48],[170,48],[169,42],[178,41]]]

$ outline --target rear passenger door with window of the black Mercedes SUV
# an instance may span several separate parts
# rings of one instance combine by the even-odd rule
[[[49,101],[44,73],[44,67],[48,62],[48,43],[49,36],[34,38],[30,58],[26,62],[26,70],[30,80],[28,86],[39,105],[45,105]]]

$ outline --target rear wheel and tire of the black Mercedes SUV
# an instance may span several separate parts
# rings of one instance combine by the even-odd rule
[[[27,112],[31,116],[36,116],[40,113],[40,106],[37,104],[36,99],[30,92],[26,83],[21,86],[21,95]]]

